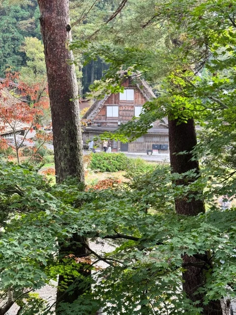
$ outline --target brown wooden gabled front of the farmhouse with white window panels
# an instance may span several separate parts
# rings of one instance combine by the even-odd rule
[[[132,78],[127,79],[122,86],[124,93],[106,95],[103,100],[95,101],[84,116],[89,120],[89,126],[85,128],[83,140],[86,143],[93,136],[100,135],[104,131],[114,131],[121,124],[130,121],[142,106],[155,95],[144,81],[134,82]],[[129,96],[125,96],[129,95]],[[168,125],[165,122],[156,121],[148,134],[128,144],[120,141],[112,143],[113,151],[121,152],[147,152],[152,149],[153,144],[168,145]],[[102,147],[101,147],[102,149]],[[159,152],[160,153],[160,152]],[[169,153],[169,149],[161,153]]]

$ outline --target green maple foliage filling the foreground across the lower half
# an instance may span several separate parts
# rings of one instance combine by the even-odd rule
[[[51,187],[32,167],[1,163],[1,291],[11,287],[18,296],[49,284],[64,270],[80,279],[68,290],[93,285],[92,293],[73,304],[60,304],[64,315],[89,315],[100,307],[109,315],[148,315],[153,308],[161,314],[187,309],[188,314],[199,315],[201,310],[180,290],[185,267],[181,255],[211,251],[212,273],[199,290],[206,292],[206,303],[234,297],[235,209],[222,212],[214,205],[197,217],[177,216],[176,195],[188,197],[189,191],[202,189],[206,182],[194,172],[172,174],[168,165],[145,172],[132,168],[132,173],[128,183],[114,189],[84,191],[76,179]],[[179,176],[192,179],[192,187],[173,185]],[[83,257],[64,257],[59,262],[58,242],[66,244],[74,233],[113,246],[106,252],[90,251],[92,264],[86,268],[93,270],[91,277],[83,278],[76,271]],[[207,264],[202,260],[202,268]],[[24,307],[30,310],[36,303],[38,312],[46,315],[51,312],[47,302],[32,299]]]

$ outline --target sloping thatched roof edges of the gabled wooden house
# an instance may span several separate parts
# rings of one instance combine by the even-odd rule
[[[147,101],[156,97],[155,94],[152,92],[151,87],[146,81],[140,78],[140,75],[135,75],[135,77],[131,76],[130,79]],[[83,118],[93,120],[110,95],[111,94],[105,95],[103,99],[96,100],[83,116]]]

